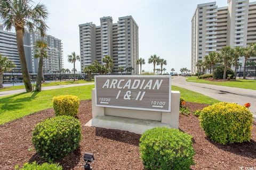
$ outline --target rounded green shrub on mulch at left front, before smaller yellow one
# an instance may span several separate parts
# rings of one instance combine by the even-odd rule
[[[72,116],[49,118],[36,125],[32,141],[40,157],[52,162],[67,156],[79,146],[81,125]]]

